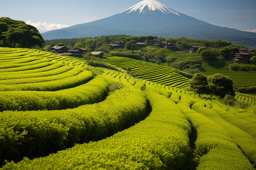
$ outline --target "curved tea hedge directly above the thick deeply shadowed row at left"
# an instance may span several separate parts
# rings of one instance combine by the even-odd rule
[[[60,91],[0,91],[0,111],[37,111],[75,108],[96,103],[108,95],[108,83],[99,76],[86,84]]]

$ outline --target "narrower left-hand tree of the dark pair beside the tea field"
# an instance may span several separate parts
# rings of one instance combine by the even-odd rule
[[[193,88],[193,91],[199,94],[207,94],[209,92],[207,76],[196,73],[189,82],[189,87]]]

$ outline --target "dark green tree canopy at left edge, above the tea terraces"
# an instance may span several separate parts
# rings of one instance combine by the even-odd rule
[[[31,48],[42,47],[44,39],[38,29],[23,21],[0,18],[0,46]]]

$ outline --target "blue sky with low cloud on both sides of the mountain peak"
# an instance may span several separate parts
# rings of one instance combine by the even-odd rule
[[[23,20],[40,32],[92,22],[117,14],[142,0],[0,0],[0,17]],[[256,0],[159,0],[210,24],[256,32]]]

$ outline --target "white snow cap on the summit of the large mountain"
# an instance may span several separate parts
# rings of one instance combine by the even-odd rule
[[[121,13],[129,14],[131,12],[139,12],[139,14],[145,14],[147,12],[150,12],[151,14],[154,14],[156,11],[161,11],[164,14],[175,14],[180,16],[180,12],[172,10],[171,8],[163,5],[158,1],[148,0],[139,2]]]

